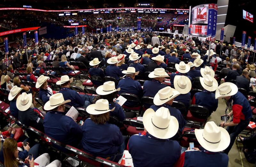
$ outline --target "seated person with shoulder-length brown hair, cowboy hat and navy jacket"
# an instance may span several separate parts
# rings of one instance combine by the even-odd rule
[[[86,108],[90,118],[82,126],[82,145],[84,151],[93,156],[100,156],[110,161],[118,162],[123,156],[125,143],[119,127],[109,124],[110,110],[108,100],[99,99]]]

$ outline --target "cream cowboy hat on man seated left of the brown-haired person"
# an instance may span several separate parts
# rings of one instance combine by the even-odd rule
[[[62,93],[56,93],[50,96],[49,101],[44,105],[44,110],[52,110],[60,105],[71,102],[71,100],[64,100]]]

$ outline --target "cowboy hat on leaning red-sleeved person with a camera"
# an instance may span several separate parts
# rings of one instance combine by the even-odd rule
[[[228,96],[233,96],[234,94],[236,94],[238,91],[238,88],[236,86],[236,84],[231,83],[231,82],[225,82],[220,84],[220,86],[218,87],[218,89],[215,92],[215,98],[225,98]]]

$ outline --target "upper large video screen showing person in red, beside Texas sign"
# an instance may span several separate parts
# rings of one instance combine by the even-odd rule
[[[191,24],[207,24],[208,6],[209,4],[203,4],[191,9]]]

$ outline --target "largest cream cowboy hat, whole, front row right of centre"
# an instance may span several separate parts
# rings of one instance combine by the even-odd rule
[[[159,139],[173,137],[179,128],[178,120],[171,116],[168,108],[160,107],[156,112],[149,108],[143,114],[143,125],[148,133]]]

